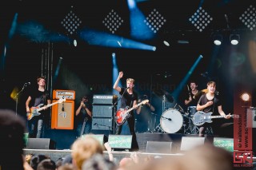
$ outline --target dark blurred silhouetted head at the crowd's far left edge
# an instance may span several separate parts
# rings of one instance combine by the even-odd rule
[[[0,169],[23,169],[25,125],[14,111],[0,109]]]

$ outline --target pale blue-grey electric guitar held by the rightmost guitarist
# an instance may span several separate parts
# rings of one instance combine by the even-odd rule
[[[198,112],[194,113],[194,117],[193,117],[194,125],[200,126],[200,125],[203,125],[206,122],[207,123],[213,122],[211,119],[225,117],[225,116],[221,116],[221,115],[211,116],[211,114],[212,114],[212,112],[204,113],[202,111],[198,111]],[[231,117],[234,117],[234,115],[231,115]]]

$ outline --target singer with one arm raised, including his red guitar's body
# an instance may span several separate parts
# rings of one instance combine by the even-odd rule
[[[138,109],[138,94],[134,92],[134,79],[133,78],[127,78],[126,79],[126,88],[121,88],[118,86],[118,82],[123,77],[123,73],[119,72],[118,78],[114,83],[113,89],[117,90],[119,94],[121,95],[121,106],[120,109],[118,109],[118,112],[116,114],[116,135],[120,135],[122,132],[122,125],[125,121],[127,121],[130,134],[132,135],[132,144],[131,144],[131,150],[132,151],[138,151],[138,142],[136,139],[136,133],[135,133],[135,118],[134,118],[134,110]],[[130,111],[130,112],[126,112]],[[120,113],[120,114],[119,114]]]

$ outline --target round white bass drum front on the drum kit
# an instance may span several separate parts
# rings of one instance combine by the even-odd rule
[[[183,125],[183,116],[177,109],[168,109],[162,113],[160,125],[164,132],[178,132]]]

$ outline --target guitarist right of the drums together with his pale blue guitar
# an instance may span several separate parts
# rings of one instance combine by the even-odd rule
[[[198,125],[199,136],[204,136],[206,130],[212,131],[219,128],[218,121],[211,123],[211,118],[225,118],[230,119],[231,115],[226,115],[222,110],[222,101],[220,97],[215,95],[216,92],[216,83],[215,81],[209,81],[207,83],[208,92],[203,94],[197,105],[197,110],[200,112],[195,113],[194,115],[194,124]],[[207,117],[205,117],[207,116]]]

